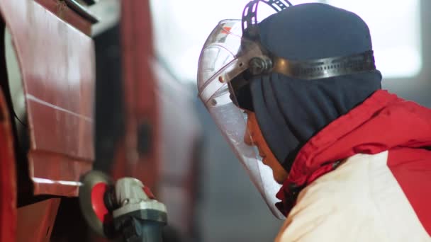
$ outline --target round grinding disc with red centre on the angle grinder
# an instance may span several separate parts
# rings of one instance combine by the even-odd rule
[[[112,214],[103,201],[105,192],[113,186],[113,180],[100,171],[90,171],[81,178],[79,188],[79,207],[84,218],[97,234],[110,237]]]

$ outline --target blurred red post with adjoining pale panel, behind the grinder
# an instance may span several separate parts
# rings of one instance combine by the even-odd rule
[[[156,61],[149,1],[121,4],[126,127],[113,177],[142,180],[167,204],[169,224],[187,238],[193,233],[199,162],[194,154],[201,132],[193,93]],[[139,156],[138,127],[145,122],[152,130],[151,151]]]

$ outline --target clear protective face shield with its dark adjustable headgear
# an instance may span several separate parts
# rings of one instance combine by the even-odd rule
[[[247,169],[254,185],[279,219],[284,215],[276,209],[276,192],[280,185],[272,176],[271,168],[262,163],[255,146],[245,144],[247,115],[242,109],[252,110],[251,97],[242,95],[254,76],[277,72],[297,79],[322,79],[375,69],[371,52],[348,57],[333,57],[306,61],[290,61],[266,50],[259,40],[257,4],[250,1],[242,20],[220,21],[208,36],[198,63],[198,96],[237,158]],[[291,4],[279,0],[264,0],[274,10],[281,11]],[[248,99],[248,100],[247,100]],[[244,101],[246,100],[246,101]],[[248,105],[247,105],[248,104]],[[240,107],[240,108],[239,108]]]

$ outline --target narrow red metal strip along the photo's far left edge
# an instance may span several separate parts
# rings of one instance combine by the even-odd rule
[[[0,91],[0,241],[16,239],[16,171],[9,110]]]

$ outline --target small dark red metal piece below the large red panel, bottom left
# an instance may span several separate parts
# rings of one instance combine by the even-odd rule
[[[37,202],[18,209],[18,242],[50,241],[60,198]]]

